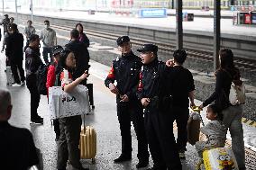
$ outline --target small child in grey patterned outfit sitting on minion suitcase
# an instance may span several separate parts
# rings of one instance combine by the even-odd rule
[[[197,141],[195,147],[199,157],[203,157],[203,152],[212,148],[223,148],[226,139],[226,128],[222,123],[223,115],[218,111],[215,104],[207,107],[206,118],[210,120],[206,126],[200,130],[206,134],[206,141]]]

